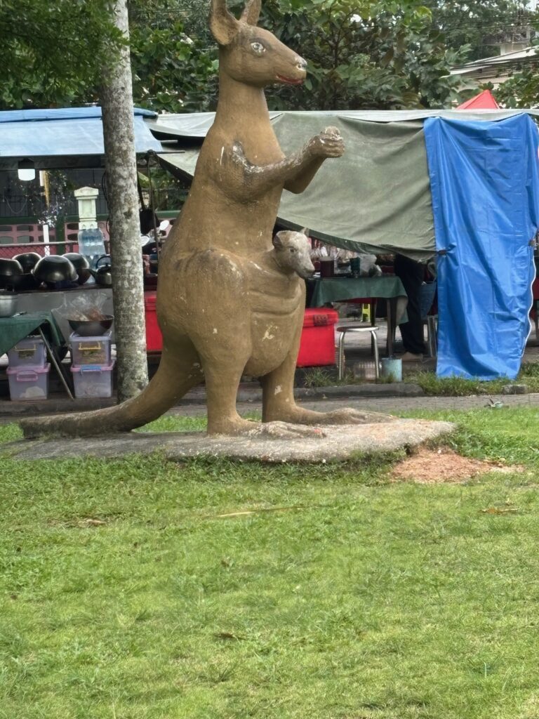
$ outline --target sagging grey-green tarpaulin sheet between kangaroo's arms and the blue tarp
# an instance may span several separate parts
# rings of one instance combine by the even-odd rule
[[[328,124],[341,131],[345,154],[326,160],[301,195],[283,192],[280,218],[307,226],[339,247],[387,252],[406,247],[432,255],[434,225],[422,124],[315,115],[299,121],[295,114],[286,114],[274,127],[288,153],[300,145],[299,126],[307,139]]]

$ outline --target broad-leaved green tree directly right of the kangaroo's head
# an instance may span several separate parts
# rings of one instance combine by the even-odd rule
[[[423,0],[267,0],[264,22],[309,61],[300,91],[277,101],[296,109],[438,107],[456,96],[447,50]]]

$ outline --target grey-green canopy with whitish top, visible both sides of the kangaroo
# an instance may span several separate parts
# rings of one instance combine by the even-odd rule
[[[285,226],[308,227],[311,234],[338,247],[367,252],[433,255],[434,223],[430,199],[423,120],[500,120],[521,110],[403,110],[272,112],[282,150],[300,149],[314,134],[340,129],[346,153],[327,160],[308,189],[282,193],[278,219]],[[537,115],[539,111],[527,111]],[[164,167],[192,176],[200,143],[213,113],[161,115],[147,120],[156,137],[175,139],[185,150],[159,154]]]

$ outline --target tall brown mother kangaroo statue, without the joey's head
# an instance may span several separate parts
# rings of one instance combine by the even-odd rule
[[[26,436],[129,431],[161,416],[203,380],[208,434],[252,433],[257,425],[236,411],[244,372],[260,377],[263,423],[278,421],[282,428],[390,420],[351,409],[318,413],[294,400],[305,283],[276,267],[272,229],[283,188],[305,190],[326,158],[343,154],[344,144],[328,128],[283,155],[264,87],[300,84],[307,63],[257,27],[259,13],[260,0],[249,0],[239,20],[226,0],[211,0],[219,99],[188,199],[160,260],[160,367],[137,397],[103,410],[24,420]],[[302,429],[313,432],[298,427],[296,433]]]

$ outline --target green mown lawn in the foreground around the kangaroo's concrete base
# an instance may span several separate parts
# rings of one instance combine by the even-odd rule
[[[539,413],[436,418],[525,471],[4,454],[0,718],[538,719]]]

